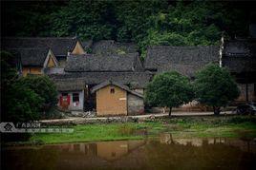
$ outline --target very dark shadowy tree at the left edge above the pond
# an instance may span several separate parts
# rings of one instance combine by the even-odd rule
[[[37,120],[44,103],[32,89],[17,84],[15,59],[11,53],[1,51],[1,119],[6,122]]]

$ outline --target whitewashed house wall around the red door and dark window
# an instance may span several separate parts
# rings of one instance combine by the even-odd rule
[[[60,96],[62,93],[68,93],[68,95],[70,96],[71,100],[70,100],[70,105],[68,107],[68,110],[83,110],[84,107],[84,90],[82,91],[69,91],[69,92],[59,92],[58,93],[58,106],[61,108],[60,106]],[[75,104],[73,101],[73,93],[79,93],[79,104]]]

